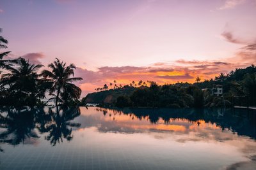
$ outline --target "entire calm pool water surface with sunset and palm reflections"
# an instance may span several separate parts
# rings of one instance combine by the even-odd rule
[[[1,108],[0,169],[256,169],[248,110]]]

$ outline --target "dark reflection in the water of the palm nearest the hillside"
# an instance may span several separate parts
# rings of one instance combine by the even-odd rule
[[[56,112],[50,110],[49,115],[51,121],[45,121],[45,124],[40,125],[40,127],[44,128],[39,130],[40,132],[49,132],[45,139],[50,141],[52,146],[55,146],[57,142],[63,142],[63,138],[70,141],[73,138],[72,127],[79,127],[81,125],[70,122],[80,115],[79,108],[60,108],[59,110],[57,107]]]

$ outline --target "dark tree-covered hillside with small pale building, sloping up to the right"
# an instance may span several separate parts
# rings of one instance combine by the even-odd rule
[[[235,69],[230,73],[220,73],[214,79],[196,83],[175,83],[157,85],[154,81],[106,89],[108,85],[96,89],[100,92],[88,94],[82,104],[99,103],[100,106],[116,107],[170,107],[203,108],[220,106],[256,106],[256,67]],[[216,95],[217,86],[223,88],[223,94]]]

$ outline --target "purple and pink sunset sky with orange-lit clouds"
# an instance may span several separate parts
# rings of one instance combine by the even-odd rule
[[[74,63],[83,96],[256,64],[256,0],[0,0],[0,27],[9,57]]]

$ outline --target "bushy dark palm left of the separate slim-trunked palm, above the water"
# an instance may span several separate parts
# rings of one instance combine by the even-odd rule
[[[20,57],[17,59],[17,66],[6,67],[8,73],[2,75],[1,86],[8,86],[9,92],[15,94],[15,104],[35,105],[37,97],[44,97],[38,90],[40,80],[37,71],[42,66],[30,64],[28,60]]]

